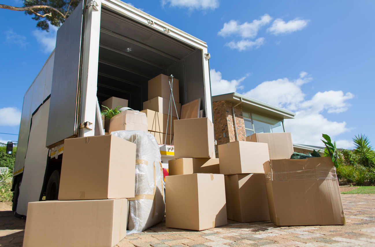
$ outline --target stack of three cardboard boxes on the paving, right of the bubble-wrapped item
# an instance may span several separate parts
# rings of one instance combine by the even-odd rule
[[[174,121],[174,157],[165,178],[166,227],[205,230],[227,223],[224,176],[213,158],[213,124],[207,118]]]

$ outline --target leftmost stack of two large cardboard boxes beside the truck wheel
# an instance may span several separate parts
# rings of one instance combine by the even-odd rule
[[[66,139],[58,200],[30,202],[24,246],[114,246],[135,194],[135,147],[113,135]]]

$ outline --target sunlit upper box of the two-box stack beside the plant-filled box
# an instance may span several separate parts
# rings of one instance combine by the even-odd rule
[[[219,145],[220,173],[264,173],[263,164],[270,160],[267,143],[230,142]]]

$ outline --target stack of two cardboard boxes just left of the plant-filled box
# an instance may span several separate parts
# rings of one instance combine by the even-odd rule
[[[226,175],[228,219],[239,222],[270,220],[263,168],[270,159],[267,143],[237,141],[218,148],[220,173]]]

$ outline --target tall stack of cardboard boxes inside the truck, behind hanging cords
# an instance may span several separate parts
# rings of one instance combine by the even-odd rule
[[[171,141],[174,134],[173,121],[181,113],[178,79],[173,78],[172,84],[174,104],[177,111],[173,102],[169,104],[171,96],[170,82],[171,79],[169,78],[168,80],[168,76],[163,74],[149,80],[148,101],[143,102],[143,110],[141,111],[147,115],[148,133],[152,134],[159,144],[164,144],[166,140],[166,145],[172,145]]]

